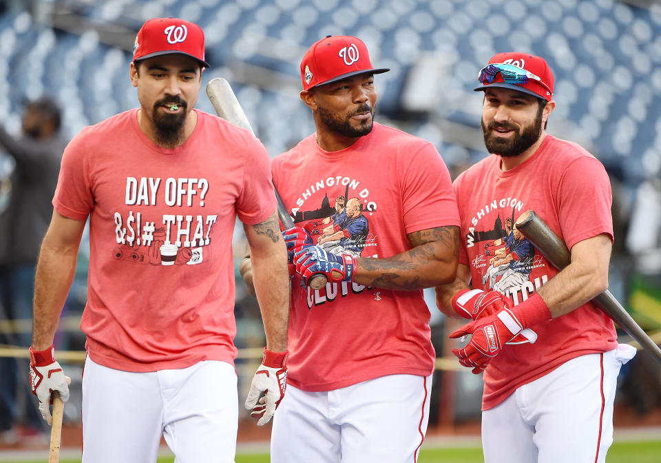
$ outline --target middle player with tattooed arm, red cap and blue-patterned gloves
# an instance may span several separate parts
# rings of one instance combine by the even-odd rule
[[[435,355],[422,289],[455,274],[450,174],[430,143],[373,122],[374,74],[387,69],[373,68],[362,41],[319,40],[300,70],[317,131],[273,159],[275,187],[299,217],[348,186],[347,223],[335,238],[348,243],[352,221],[364,233],[369,225],[370,238],[357,243],[358,257],[311,245],[302,227],[285,231],[298,273],[271,461],[412,462],[427,429]],[[306,185],[317,189],[302,197]],[[326,287],[301,288],[315,273]]]

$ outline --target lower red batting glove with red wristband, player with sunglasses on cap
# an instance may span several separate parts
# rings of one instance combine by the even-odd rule
[[[472,335],[463,349],[452,349],[452,353],[464,367],[472,367],[475,374],[484,371],[503,345],[516,338],[523,329],[552,318],[546,302],[536,293],[516,307],[510,307],[512,302],[505,296],[502,300],[502,310],[482,316],[450,334],[450,338]]]

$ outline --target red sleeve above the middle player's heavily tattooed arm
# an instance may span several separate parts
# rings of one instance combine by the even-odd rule
[[[406,233],[459,226],[450,172],[433,145],[426,143],[410,158],[403,177],[402,205]]]

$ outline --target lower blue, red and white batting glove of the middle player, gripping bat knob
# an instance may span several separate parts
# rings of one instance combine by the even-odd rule
[[[308,246],[294,255],[296,271],[309,281],[315,274],[323,274],[329,282],[352,281],[356,272],[356,258],[349,254],[336,256],[318,246]]]

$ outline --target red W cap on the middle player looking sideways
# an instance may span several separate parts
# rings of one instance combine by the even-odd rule
[[[375,69],[367,47],[360,39],[328,35],[312,45],[301,61],[303,90],[341,81],[357,74],[381,74],[388,68]]]

